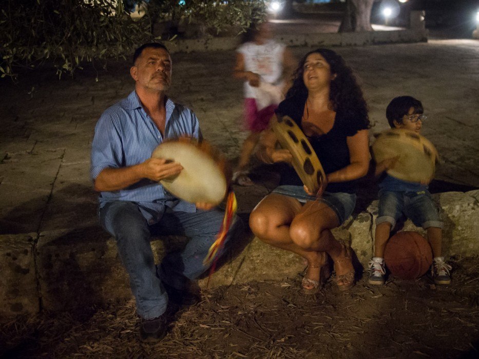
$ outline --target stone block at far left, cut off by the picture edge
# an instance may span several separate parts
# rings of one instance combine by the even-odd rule
[[[36,233],[0,235],[0,316],[40,310],[33,246]]]

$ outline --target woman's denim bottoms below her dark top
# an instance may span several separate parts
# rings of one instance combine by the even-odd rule
[[[289,185],[276,187],[271,193],[293,197],[301,203],[306,203],[308,201],[322,202],[336,213],[339,225],[342,225],[344,221],[348,219],[351,213],[353,213],[354,206],[356,205],[356,194],[354,193],[325,191],[320,198],[317,198],[306,193],[302,186]]]

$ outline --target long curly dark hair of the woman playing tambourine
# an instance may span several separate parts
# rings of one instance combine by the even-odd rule
[[[334,81],[331,81],[329,94],[334,111],[341,111],[346,118],[363,121],[369,128],[371,124],[369,122],[368,106],[363,98],[361,88],[356,82],[356,77],[351,68],[346,65],[344,59],[333,50],[316,49],[303,56],[294,73],[293,86],[286,93],[286,98],[295,96],[306,101],[308,89],[306,89],[303,81],[304,63],[306,58],[313,53],[318,53],[324,57],[331,68],[331,73],[336,74]]]

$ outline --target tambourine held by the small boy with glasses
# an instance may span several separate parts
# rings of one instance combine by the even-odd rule
[[[414,131],[394,128],[382,132],[374,142],[374,160],[399,156],[394,166],[386,172],[408,182],[429,183],[434,177],[438,154],[434,145]]]

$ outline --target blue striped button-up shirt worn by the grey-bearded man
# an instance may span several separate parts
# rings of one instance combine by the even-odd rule
[[[105,168],[140,164],[165,139],[182,135],[201,138],[198,118],[190,109],[166,100],[166,124],[160,130],[146,114],[135,91],[111,106],[100,117],[91,145],[90,178],[97,178]],[[158,182],[143,178],[127,188],[101,192],[100,207],[110,201],[131,201],[138,204],[149,224],[158,222],[168,206],[177,211],[195,212],[194,204],[181,201]]]

